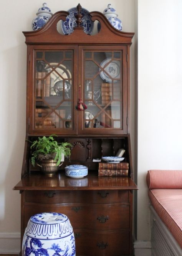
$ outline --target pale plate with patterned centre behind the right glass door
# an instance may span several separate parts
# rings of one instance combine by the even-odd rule
[[[110,62],[108,65],[107,63]],[[106,67],[104,68],[104,66],[106,65]],[[101,71],[101,68],[99,68],[100,71],[100,76],[103,80],[106,80],[106,82],[108,83],[112,83],[112,79],[110,78],[110,76],[113,79],[116,78],[120,78],[120,62],[119,60],[113,60],[111,62],[111,58],[107,58],[105,60],[103,60],[103,62],[101,62],[101,67],[104,68],[104,71]],[[110,76],[108,76],[108,74]],[[114,82],[116,82],[116,80],[114,80]]]

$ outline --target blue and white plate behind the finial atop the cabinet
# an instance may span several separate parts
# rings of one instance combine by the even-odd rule
[[[74,27],[77,26],[76,17],[74,16],[78,12],[77,8],[76,7],[71,8],[68,10],[68,12],[69,12],[69,15],[66,17],[66,21],[61,22],[61,27],[65,35],[71,34],[74,30]],[[91,21],[89,11],[84,8],[81,8],[81,15],[83,15],[83,17],[81,18],[82,20],[81,27],[83,27],[83,31],[86,34],[91,35],[91,33],[93,32],[94,23]]]

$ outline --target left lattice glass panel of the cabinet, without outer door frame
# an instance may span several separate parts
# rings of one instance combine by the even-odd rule
[[[33,129],[75,133],[74,50],[34,50],[34,59]]]

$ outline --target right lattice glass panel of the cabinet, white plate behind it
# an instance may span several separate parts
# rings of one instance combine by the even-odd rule
[[[106,49],[84,47],[82,51],[83,98],[87,106],[83,113],[83,133],[93,130],[93,133],[107,134],[113,130],[119,134],[127,130],[126,48]]]

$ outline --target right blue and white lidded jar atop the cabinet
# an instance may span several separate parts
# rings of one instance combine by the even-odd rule
[[[114,28],[120,31],[122,30],[122,22],[119,20],[119,18],[117,18],[118,14],[116,13],[116,10],[111,7],[110,3],[108,4],[108,8],[106,8],[103,13]]]

